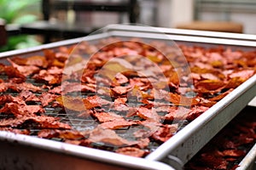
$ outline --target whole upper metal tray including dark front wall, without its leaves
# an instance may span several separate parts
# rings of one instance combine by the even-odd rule
[[[184,42],[192,45],[200,44],[201,46],[208,47],[219,44],[230,48],[239,47],[243,50],[252,50],[256,47],[256,36],[253,35],[113,25],[106,27],[96,35],[49,43],[35,48],[5,52],[0,54],[0,57],[6,58],[21,54],[22,56],[29,56],[42,53],[44,48],[69,46],[81,41],[97,41],[105,37],[142,37],[155,40],[172,39],[175,42]],[[44,169],[45,164],[49,168],[60,168],[60,166],[63,166],[64,169],[70,164],[78,169],[91,169],[91,167],[97,165],[101,165],[95,167],[98,169],[182,168],[184,163],[189,161],[198,150],[207,144],[220,129],[230,122],[253,99],[256,94],[255,92],[256,75],[248,79],[247,82],[242,83],[241,86],[224,97],[224,99],[221,99],[216,105],[213,105],[208,111],[196,118],[195,121],[183,127],[181,131],[166,141],[166,143],[161,144],[145,158],[121,156],[108,151],[64,144],[48,139],[0,132],[0,162],[3,167],[22,165],[27,167],[26,169],[30,167]],[[21,151],[17,152],[15,148]],[[53,156],[53,158],[50,156]],[[65,159],[63,159],[67,159],[67,161],[58,160],[62,156],[65,156]],[[53,159],[57,161],[53,161]],[[74,162],[79,162],[84,166],[78,167]]]

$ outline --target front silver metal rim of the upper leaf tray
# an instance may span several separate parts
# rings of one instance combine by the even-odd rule
[[[65,144],[63,142],[49,139],[39,139],[23,134],[0,131],[0,144],[1,141],[6,141],[14,144],[22,144],[29,147],[36,147],[42,150],[55,151],[72,156],[79,156],[80,158],[89,159],[92,161],[106,162],[108,164],[113,164],[113,166],[132,169],[174,170],[174,168],[160,161],[149,161],[143,158],[120,155],[105,150],[96,150],[93,148],[74,144]]]

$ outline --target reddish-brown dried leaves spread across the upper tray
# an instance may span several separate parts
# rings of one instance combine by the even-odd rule
[[[10,58],[0,65],[0,130],[146,156],[256,71],[256,51],[179,48],[109,38]],[[95,123],[76,127],[49,108]]]

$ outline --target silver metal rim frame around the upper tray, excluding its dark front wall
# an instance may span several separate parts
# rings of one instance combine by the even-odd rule
[[[27,48],[0,54],[0,58],[17,54],[31,54],[40,52],[44,48],[57,48],[72,45],[81,41],[94,41],[104,37],[142,37],[178,42],[201,43],[205,45],[221,44],[239,48],[255,48],[256,36],[234,33],[219,33],[211,31],[184,31],[167,28],[113,25],[106,27],[102,33],[89,37],[50,43],[36,48]],[[253,99],[256,92],[256,75],[251,77],[233,90],[229,95],[213,105],[208,111],[183,127],[166,143],[161,144],[154,152],[143,158],[120,156],[103,150],[90,149],[82,146],[64,144],[61,142],[38,139],[31,136],[0,132],[0,141],[8,141],[42,150],[65,153],[78,156],[85,160],[108,162],[113,167],[129,167],[134,169],[173,169],[182,168],[183,164],[195,155],[212,137],[219,132],[232,118],[234,118]],[[0,156],[1,159],[3,157]],[[1,160],[0,159],[0,160]],[[172,166],[166,166],[166,164]]]

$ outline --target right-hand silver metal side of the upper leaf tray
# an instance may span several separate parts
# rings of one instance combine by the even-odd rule
[[[256,75],[243,82],[201,116],[190,122],[171,139],[161,144],[145,159],[165,161],[168,155],[177,156],[185,164],[195,156],[256,94]]]

